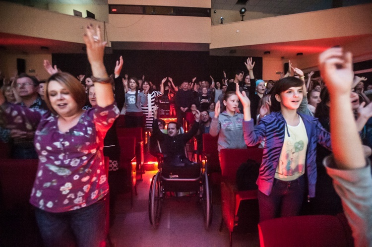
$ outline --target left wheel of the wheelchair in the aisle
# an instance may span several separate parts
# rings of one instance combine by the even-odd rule
[[[162,206],[162,191],[160,186],[160,172],[152,178],[149,193],[149,220],[150,224],[157,229],[160,222],[161,206]]]

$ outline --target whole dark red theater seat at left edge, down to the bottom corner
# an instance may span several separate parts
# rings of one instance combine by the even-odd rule
[[[0,159],[0,246],[42,246],[29,203],[38,159]]]

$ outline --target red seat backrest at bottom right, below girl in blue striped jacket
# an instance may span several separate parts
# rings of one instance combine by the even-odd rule
[[[332,215],[282,217],[258,224],[261,247],[348,247],[347,231]]]

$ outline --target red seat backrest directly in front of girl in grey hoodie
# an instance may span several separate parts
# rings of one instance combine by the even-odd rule
[[[237,171],[243,162],[248,159],[261,164],[262,148],[248,147],[247,149],[221,149],[221,175],[222,181],[236,184]]]

